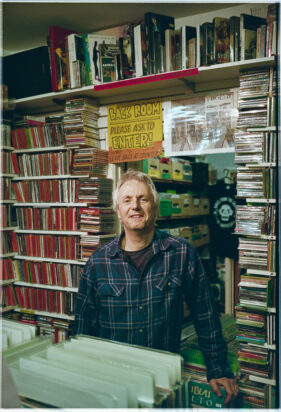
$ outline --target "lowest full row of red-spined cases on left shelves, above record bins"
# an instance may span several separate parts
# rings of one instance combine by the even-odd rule
[[[16,285],[14,290],[20,309],[61,315],[74,314],[75,293]]]

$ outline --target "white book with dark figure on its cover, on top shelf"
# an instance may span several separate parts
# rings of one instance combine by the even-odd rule
[[[100,45],[105,43],[116,44],[116,37],[93,33],[85,34],[82,38],[88,81],[90,81],[90,84],[100,84],[102,82]]]

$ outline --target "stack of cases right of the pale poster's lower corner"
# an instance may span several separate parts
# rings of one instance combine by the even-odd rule
[[[237,131],[235,141],[235,163],[275,163],[276,132]]]

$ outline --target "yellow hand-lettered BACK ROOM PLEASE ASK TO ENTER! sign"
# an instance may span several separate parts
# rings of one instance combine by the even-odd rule
[[[162,102],[108,106],[109,163],[156,157],[162,152]]]

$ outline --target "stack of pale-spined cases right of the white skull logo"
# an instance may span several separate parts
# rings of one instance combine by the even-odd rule
[[[250,236],[274,236],[276,230],[276,205],[238,205],[236,207],[235,233]]]

